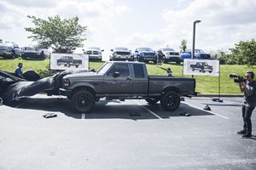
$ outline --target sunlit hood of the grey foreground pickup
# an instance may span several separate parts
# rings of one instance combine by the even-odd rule
[[[98,79],[98,78],[102,78],[103,75],[98,75],[96,72],[80,72],[80,73],[73,73],[73,74],[69,74],[65,77],[63,77],[63,79],[79,79],[79,80],[84,80],[84,79]]]

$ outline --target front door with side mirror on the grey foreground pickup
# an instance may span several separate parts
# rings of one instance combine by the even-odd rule
[[[114,73],[119,73],[114,77]],[[103,91],[106,94],[131,94],[131,71],[128,63],[114,63],[106,73],[103,83]]]

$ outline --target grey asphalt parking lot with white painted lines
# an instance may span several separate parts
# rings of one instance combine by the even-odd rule
[[[241,139],[241,98],[222,99],[185,98],[172,112],[101,100],[80,114],[43,94],[1,105],[0,169],[256,169],[256,111],[253,138]]]

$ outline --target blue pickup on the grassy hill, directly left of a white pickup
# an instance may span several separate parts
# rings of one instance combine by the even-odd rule
[[[151,48],[136,48],[133,54],[134,60],[140,62],[148,62],[153,61],[154,63],[157,62],[157,56],[153,49]]]

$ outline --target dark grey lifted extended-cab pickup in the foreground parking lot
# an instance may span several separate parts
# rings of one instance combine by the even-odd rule
[[[101,98],[146,99],[150,105],[160,101],[166,111],[174,111],[181,95],[196,94],[195,78],[148,76],[146,65],[137,61],[108,61],[96,72],[69,74],[59,92],[79,112],[91,111]]]

